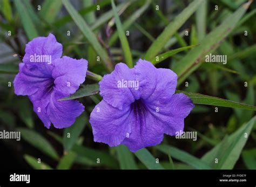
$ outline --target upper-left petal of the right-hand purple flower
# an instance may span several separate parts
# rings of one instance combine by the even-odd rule
[[[119,63],[111,74],[104,75],[99,82],[100,95],[104,101],[113,107],[123,109],[129,106],[136,98],[138,92],[134,88],[118,87],[118,82],[135,81],[134,70],[130,69],[123,63]]]

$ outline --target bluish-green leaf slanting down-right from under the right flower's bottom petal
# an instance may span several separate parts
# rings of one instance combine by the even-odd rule
[[[140,149],[134,154],[147,167],[147,169],[164,169],[160,163],[156,163],[156,158],[154,158],[147,149]]]

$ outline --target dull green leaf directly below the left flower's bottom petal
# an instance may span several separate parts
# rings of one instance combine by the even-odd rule
[[[60,101],[61,102],[61,101]],[[65,151],[70,151],[78,140],[78,137],[83,132],[87,123],[87,116],[85,113],[77,117],[77,120],[71,127],[65,128],[63,134],[63,146]]]

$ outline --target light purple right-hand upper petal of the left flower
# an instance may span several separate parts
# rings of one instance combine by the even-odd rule
[[[85,81],[88,61],[62,57],[53,61],[52,78],[55,88],[64,94],[73,94]]]

